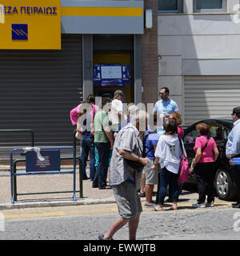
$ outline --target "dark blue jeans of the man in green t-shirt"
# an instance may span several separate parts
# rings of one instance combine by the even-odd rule
[[[98,166],[96,166],[96,172],[94,176],[94,187],[105,187],[107,169],[110,156],[110,142],[95,142],[94,145],[98,150]]]

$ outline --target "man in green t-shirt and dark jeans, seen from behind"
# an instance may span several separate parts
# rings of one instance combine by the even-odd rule
[[[114,146],[113,134],[108,118],[110,102],[110,98],[102,98],[102,109],[98,109],[94,118],[94,145],[98,150],[99,158],[92,187],[98,187],[98,190],[106,189],[110,150]]]

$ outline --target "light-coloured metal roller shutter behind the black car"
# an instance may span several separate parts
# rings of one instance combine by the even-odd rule
[[[186,76],[185,125],[206,118],[231,118],[240,105],[240,76]]]

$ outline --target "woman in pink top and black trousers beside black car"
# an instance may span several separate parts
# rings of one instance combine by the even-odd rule
[[[193,204],[194,208],[214,206],[214,162],[219,152],[214,138],[209,138],[210,126],[201,122],[196,126],[199,137],[195,140],[195,168],[198,181],[198,203]],[[205,199],[207,195],[207,202]]]

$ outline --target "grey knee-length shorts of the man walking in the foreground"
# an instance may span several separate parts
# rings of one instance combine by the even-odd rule
[[[130,182],[122,182],[120,185],[112,186],[112,189],[120,218],[135,219],[138,212],[142,212],[141,200],[135,185]]]

